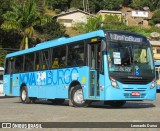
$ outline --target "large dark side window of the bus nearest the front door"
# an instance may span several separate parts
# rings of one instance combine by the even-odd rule
[[[68,66],[82,66],[84,65],[84,44],[76,44],[68,46]]]

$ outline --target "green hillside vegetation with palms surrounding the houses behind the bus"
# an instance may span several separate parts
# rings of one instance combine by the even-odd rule
[[[0,0],[0,66],[6,53],[35,46],[62,36],[74,36],[97,29],[121,29],[148,36],[159,32],[155,24],[160,23],[159,0]],[[120,10],[123,7],[152,11],[151,28],[126,26],[117,18],[106,17],[103,26],[101,18],[88,18],[86,24],[65,28],[52,17],[69,9],[81,9],[96,14],[99,10]]]

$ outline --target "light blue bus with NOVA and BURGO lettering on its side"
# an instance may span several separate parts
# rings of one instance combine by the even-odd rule
[[[20,96],[22,103],[68,99],[75,107],[154,100],[151,45],[142,35],[119,30],[43,42],[6,56],[4,93]]]

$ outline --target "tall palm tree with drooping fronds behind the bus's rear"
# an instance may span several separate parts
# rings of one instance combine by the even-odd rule
[[[23,4],[13,3],[12,10],[3,14],[4,30],[17,30],[23,39],[20,49],[28,48],[28,39],[34,34],[34,26],[41,24],[42,20],[36,12],[35,0],[24,1]]]

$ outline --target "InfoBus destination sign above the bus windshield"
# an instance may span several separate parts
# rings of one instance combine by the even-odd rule
[[[111,40],[120,40],[120,41],[128,41],[128,42],[142,42],[141,37],[137,37],[134,35],[127,35],[127,34],[116,34],[110,33]]]

